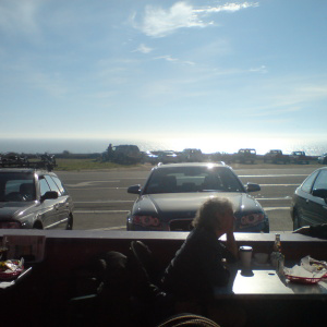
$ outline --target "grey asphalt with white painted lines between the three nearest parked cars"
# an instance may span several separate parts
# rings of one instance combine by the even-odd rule
[[[290,231],[290,203],[294,190],[316,165],[262,168],[255,165],[233,167],[242,182],[258,183],[261,192],[252,195],[267,211],[270,231]],[[271,166],[269,166],[271,167]],[[108,171],[63,172],[58,175],[66,185],[75,204],[75,230],[124,230],[125,218],[136,196],[126,193],[133,184],[144,184],[152,167]]]

